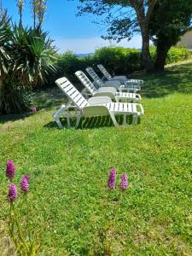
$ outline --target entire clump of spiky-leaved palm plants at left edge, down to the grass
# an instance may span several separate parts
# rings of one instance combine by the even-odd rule
[[[55,49],[52,40],[39,28],[9,27],[9,39],[0,24],[0,53],[3,71],[0,113],[21,112],[28,108],[26,92],[36,84],[43,84],[49,73],[55,73]],[[1,32],[2,31],[2,32]],[[8,37],[7,36],[7,37]],[[3,41],[4,40],[4,41]],[[1,91],[1,90],[0,90]]]

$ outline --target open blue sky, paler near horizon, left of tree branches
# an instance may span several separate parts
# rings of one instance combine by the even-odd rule
[[[32,13],[29,8],[30,0],[26,0],[23,16],[25,25],[32,25]],[[103,40],[101,35],[105,33],[101,26],[92,23],[96,20],[94,15],[77,17],[79,1],[48,0],[48,10],[45,15],[44,29],[49,31],[49,36],[55,40],[55,45],[60,53],[67,49],[73,52],[90,53],[98,47],[116,45],[115,42]],[[3,0],[3,7],[8,9],[13,20],[18,20],[18,10],[15,0]],[[118,45],[131,48],[141,48],[141,36],[137,35],[127,42],[121,41]]]

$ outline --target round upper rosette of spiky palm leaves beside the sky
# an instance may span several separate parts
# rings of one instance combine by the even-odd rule
[[[55,73],[55,49],[47,32],[14,26],[11,35],[11,78],[20,86],[44,83],[49,73]]]

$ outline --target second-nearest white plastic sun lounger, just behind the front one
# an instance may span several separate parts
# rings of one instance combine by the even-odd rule
[[[90,92],[91,96],[108,96],[114,102],[138,102],[141,100],[141,96],[136,93],[129,93],[129,92],[118,92],[114,87],[100,87],[96,90],[96,87],[93,83],[90,82],[90,79],[82,72],[77,71],[75,73],[77,78],[84,84],[84,87]]]

